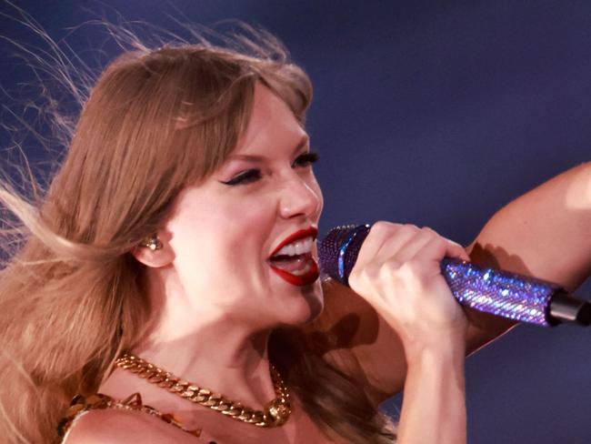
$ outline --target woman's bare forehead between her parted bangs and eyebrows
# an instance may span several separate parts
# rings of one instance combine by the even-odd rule
[[[258,83],[250,120],[228,158],[254,156],[282,146],[293,148],[304,138],[307,139],[306,131],[289,106],[269,88]]]

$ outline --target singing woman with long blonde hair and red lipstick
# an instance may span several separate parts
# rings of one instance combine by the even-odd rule
[[[82,394],[60,422],[67,444],[392,442],[377,406],[404,386],[397,442],[465,442],[464,357],[510,325],[468,322],[437,263],[469,257],[428,228],[378,223],[351,290],[318,280],[311,86],[269,37],[253,48],[120,56],[38,215],[2,192],[31,233],[0,278],[9,441],[57,440]],[[560,241],[566,215],[537,215],[589,171],[499,212],[473,259],[576,287],[588,211]],[[557,244],[552,267],[540,238]]]

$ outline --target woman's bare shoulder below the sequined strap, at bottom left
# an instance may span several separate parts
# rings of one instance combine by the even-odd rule
[[[75,419],[63,444],[204,442],[142,411],[90,410]]]

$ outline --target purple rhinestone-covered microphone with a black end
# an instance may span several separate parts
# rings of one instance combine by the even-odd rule
[[[323,273],[348,287],[349,273],[369,229],[369,225],[331,229],[318,245]],[[591,324],[591,304],[552,282],[476,267],[452,257],[444,257],[440,266],[452,294],[463,306],[544,327],[563,321]]]

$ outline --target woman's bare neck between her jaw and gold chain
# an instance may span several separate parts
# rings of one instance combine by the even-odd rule
[[[173,298],[160,298],[170,301]],[[164,302],[158,319],[132,353],[195,385],[262,409],[275,399],[267,342],[271,329],[240,325],[223,313]]]

